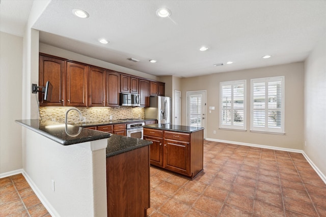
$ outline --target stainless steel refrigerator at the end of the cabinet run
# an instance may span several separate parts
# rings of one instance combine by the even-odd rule
[[[145,108],[145,118],[157,119],[159,124],[172,123],[172,99],[170,97],[150,97],[150,107]]]

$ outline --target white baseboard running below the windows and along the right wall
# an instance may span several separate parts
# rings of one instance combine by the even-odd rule
[[[296,153],[302,153],[305,159],[308,161],[310,166],[316,171],[316,173],[319,175],[321,180],[326,184],[326,176],[319,170],[319,168],[310,160],[310,158],[307,156],[305,151],[300,149],[292,149],[292,148],[281,148],[276,146],[268,146],[268,145],[259,145],[259,144],[252,144],[252,143],[244,143],[244,142],[234,142],[234,141],[227,141],[227,140],[221,140],[221,139],[210,139],[206,138],[208,141],[214,141],[214,142],[223,142],[223,143],[229,143],[229,144],[235,144],[235,145],[245,145],[245,146],[252,146],[252,147],[258,147],[258,148],[268,148],[273,150],[281,150],[281,151],[290,151],[290,152],[296,152]]]

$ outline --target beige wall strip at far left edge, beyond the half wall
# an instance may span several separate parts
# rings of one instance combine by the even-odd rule
[[[0,32],[0,174],[22,168],[23,38]]]

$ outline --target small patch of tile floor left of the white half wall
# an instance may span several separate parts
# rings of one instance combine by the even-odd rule
[[[0,216],[51,216],[22,174],[0,179]]]

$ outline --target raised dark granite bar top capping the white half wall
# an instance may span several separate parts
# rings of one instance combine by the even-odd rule
[[[25,119],[15,120],[15,122],[62,145],[72,145],[76,143],[105,139],[110,138],[112,135],[110,133],[94,131],[71,125],[67,125],[66,130],[64,123],[54,121]]]

